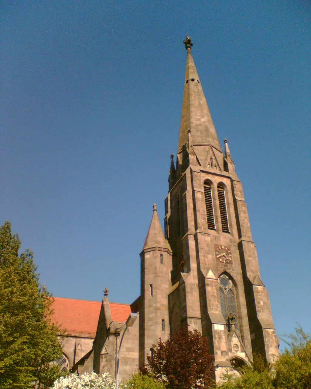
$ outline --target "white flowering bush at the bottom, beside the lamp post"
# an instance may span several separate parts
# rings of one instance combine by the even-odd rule
[[[115,389],[115,379],[107,372],[101,376],[94,372],[84,373],[81,377],[71,374],[58,378],[52,389]]]

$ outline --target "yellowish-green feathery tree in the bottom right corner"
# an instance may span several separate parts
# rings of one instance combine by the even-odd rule
[[[296,333],[282,339],[287,348],[276,362],[275,387],[278,389],[311,388],[311,336],[301,326]]]

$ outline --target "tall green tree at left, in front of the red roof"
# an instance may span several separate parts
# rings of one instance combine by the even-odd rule
[[[61,375],[51,363],[61,357],[61,345],[51,295],[40,286],[32,252],[19,256],[20,247],[6,221],[0,228],[0,387],[44,388]]]

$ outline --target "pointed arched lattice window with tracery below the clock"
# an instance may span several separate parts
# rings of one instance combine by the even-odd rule
[[[218,283],[221,313],[224,316],[228,329],[230,330],[231,324],[234,324],[236,331],[239,332],[240,328],[236,289],[231,279],[225,274],[220,275]]]

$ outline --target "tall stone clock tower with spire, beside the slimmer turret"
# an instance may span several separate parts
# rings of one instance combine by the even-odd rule
[[[164,219],[172,251],[169,325],[171,333],[188,325],[209,339],[218,378],[227,369],[250,363],[253,352],[273,363],[279,354],[278,338],[243,188],[226,139],[224,153],[220,147],[191,55],[191,39],[183,43],[187,63],[182,116],[176,166],[171,155]],[[170,249],[162,246],[157,250],[169,254]],[[142,258],[147,263],[145,251]],[[156,252],[150,251],[149,256],[159,262]],[[149,274],[160,277],[156,266]],[[163,277],[164,291],[168,287],[165,272]],[[142,293],[147,294],[151,283],[147,273],[145,282]]]

